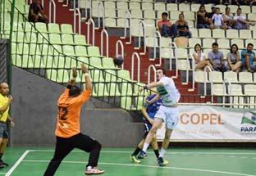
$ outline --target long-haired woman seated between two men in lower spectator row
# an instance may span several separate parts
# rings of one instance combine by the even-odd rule
[[[242,66],[242,61],[240,61],[240,53],[236,44],[232,44],[231,52],[226,54],[227,68],[229,70],[239,73]]]

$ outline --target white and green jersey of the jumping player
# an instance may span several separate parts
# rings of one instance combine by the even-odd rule
[[[158,93],[162,98],[162,104],[164,106],[171,106],[179,102],[181,94],[176,88],[173,80],[164,76],[159,81],[163,83],[163,86],[157,87]]]

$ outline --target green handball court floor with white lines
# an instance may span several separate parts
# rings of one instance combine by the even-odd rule
[[[156,157],[149,149],[141,164],[130,161],[134,148],[103,148],[98,169],[105,169],[104,176],[256,176],[256,152],[253,149],[226,148],[171,148],[164,160],[169,164],[158,167]],[[9,166],[0,169],[0,176],[42,176],[53,148],[8,147],[3,156]],[[85,175],[89,155],[72,151],[62,161],[56,176]]]

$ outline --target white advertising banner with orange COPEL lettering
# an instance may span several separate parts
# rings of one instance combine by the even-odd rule
[[[256,142],[256,111],[219,106],[179,106],[179,123],[172,141]],[[165,125],[158,129],[162,140]]]

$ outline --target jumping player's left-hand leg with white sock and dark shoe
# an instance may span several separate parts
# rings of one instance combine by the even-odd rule
[[[149,134],[147,135],[147,138],[145,139],[143,149],[142,149],[142,151],[139,154],[139,158],[144,158],[145,157],[146,151],[147,151],[147,149],[149,147],[149,143],[152,141],[153,135],[155,133],[157,133],[157,130],[160,127],[161,124],[162,124],[162,119],[155,118],[153,120],[153,126],[150,129]]]

